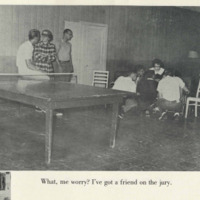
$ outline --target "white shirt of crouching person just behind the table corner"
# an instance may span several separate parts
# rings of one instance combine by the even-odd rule
[[[136,83],[131,79],[131,77],[120,76],[115,81],[112,89],[135,93],[136,92]]]

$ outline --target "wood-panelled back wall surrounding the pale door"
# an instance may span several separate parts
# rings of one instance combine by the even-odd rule
[[[0,6],[0,19],[0,56],[15,56],[31,28],[58,39],[65,20],[108,24],[111,79],[129,64],[149,67],[155,57],[186,68],[188,51],[200,52],[200,13],[177,7]]]

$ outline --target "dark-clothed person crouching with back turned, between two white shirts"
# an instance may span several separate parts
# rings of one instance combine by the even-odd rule
[[[138,104],[141,110],[148,110],[157,97],[157,82],[154,80],[154,72],[147,71],[144,78],[137,84]]]

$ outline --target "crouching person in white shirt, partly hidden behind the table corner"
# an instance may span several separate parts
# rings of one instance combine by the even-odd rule
[[[137,74],[135,71],[128,71],[127,76],[120,76],[119,78],[117,78],[112,89],[127,91],[136,94],[136,78]],[[125,104],[122,106],[121,115],[128,112],[132,108],[135,108],[136,106],[137,100],[136,98],[134,98],[134,95],[130,94],[130,96],[127,97],[127,99],[125,100]]]

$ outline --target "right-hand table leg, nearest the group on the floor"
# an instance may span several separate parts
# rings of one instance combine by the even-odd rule
[[[119,113],[119,104],[113,104],[112,108],[112,125],[111,125],[111,137],[110,137],[110,147],[115,147],[115,139],[117,135],[117,125],[118,125],[118,113]]]

